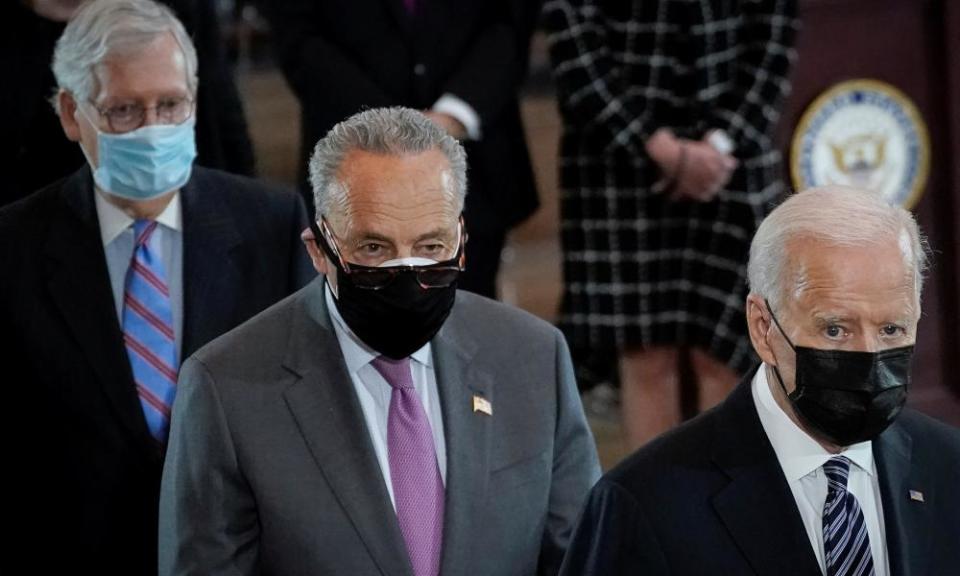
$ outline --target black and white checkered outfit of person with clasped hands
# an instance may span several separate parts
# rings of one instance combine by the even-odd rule
[[[548,0],[564,133],[564,296],[574,352],[690,346],[744,372],[746,260],[785,193],[774,129],[789,92],[796,0]],[[740,167],[708,203],[651,191],[660,127],[719,128]]]

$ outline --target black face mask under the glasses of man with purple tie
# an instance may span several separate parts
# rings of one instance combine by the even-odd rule
[[[436,335],[456,301],[456,280],[449,286],[424,288],[416,272],[403,270],[383,288],[360,288],[343,270],[340,259],[313,220],[310,229],[317,246],[336,267],[334,302],[337,310],[350,330],[367,346],[399,360],[422,348]]]

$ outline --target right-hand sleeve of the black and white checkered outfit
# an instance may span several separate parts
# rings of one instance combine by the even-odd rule
[[[743,51],[734,62],[732,89],[711,102],[708,123],[726,131],[736,143],[738,156],[751,157],[775,147],[773,131],[790,92],[799,20],[796,0],[747,0],[741,5]],[[707,55],[709,36],[716,30],[709,23],[690,29],[699,54]],[[701,57],[696,62],[699,85],[709,86],[710,59]]]

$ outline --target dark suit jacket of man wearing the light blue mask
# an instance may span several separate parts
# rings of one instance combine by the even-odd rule
[[[0,210],[2,452],[16,527],[0,563],[155,574],[163,450],[133,383],[93,194],[83,168]],[[181,201],[186,358],[315,273],[293,192],[195,168]]]

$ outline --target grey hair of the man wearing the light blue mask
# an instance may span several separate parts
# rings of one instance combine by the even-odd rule
[[[183,50],[187,86],[197,92],[197,51],[173,12],[153,0],[91,0],[83,4],[57,40],[53,75],[60,90],[78,101],[96,96],[96,68],[108,57],[136,54],[155,38],[173,34]],[[51,98],[59,112],[59,99]]]

